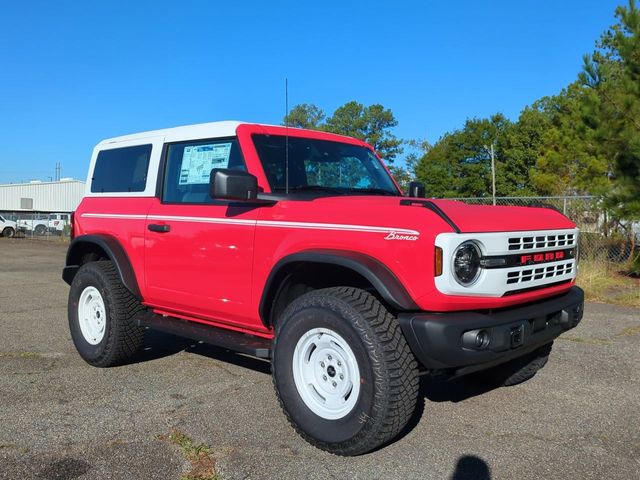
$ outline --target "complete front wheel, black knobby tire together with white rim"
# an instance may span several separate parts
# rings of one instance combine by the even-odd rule
[[[371,294],[336,287],[292,302],[276,325],[273,382],[294,429],[337,455],[393,440],[416,408],[417,363]]]

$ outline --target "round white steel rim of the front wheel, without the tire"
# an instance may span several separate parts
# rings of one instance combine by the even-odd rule
[[[305,405],[326,420],[344,417],[358,401],[358,361],[345,339],[328,328],[314,328],[300,337],[293,353],[293,379]]]

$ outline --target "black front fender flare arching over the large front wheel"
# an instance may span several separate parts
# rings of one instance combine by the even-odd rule
[[[318,281],[322,273],[330,273],[332,281],[315,288],[369,287],[393,310],[418,309],[402,282],[379,260],[363,253],[347,250],[306,250],[280,259],[271,270],[259,304],[259,314],[263,324],[266,327],[273,325],[274,318],[282,310],[282,305],[279,303],[283,297],[288,299],[286,302],[288,304],[297,296],[306,293],[301,291],[290,294],[286,291],[291,285],[296,285],[292,280],[293,277]],[[340,281],[333,281],[335,277],[340,278]]]

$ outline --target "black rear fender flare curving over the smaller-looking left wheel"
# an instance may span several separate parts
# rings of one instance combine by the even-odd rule
[[[87,252],[91,246],[97,246],[106,256],[113,262],[118,272],[118,276],[122,284],[129,290],[138,300],[142,299],[138,280],[131,266],[131,261],[127,252],[122,248],[120,242],[110,235],[81,235],[74,238],[69,244],[67,250],[67,259],[65,267],[62,270],[62,279],[71,285],[73,278],[78,273],[81,266],[82,255]]]

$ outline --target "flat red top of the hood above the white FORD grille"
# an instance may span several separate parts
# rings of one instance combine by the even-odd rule
[[[571,220],[552,208],[468,205],[454,200],[430,202],[463,233],[575,228]]]

